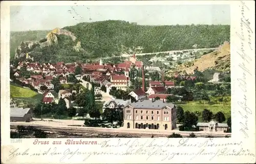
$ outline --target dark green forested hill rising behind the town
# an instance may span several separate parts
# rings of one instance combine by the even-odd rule
[[[51,45],[49,49],[54,52],[51,54],[52,59],[62,58],[67,62],[123,53],[193,49],[193,45],[197,45],[197,48],[215,48],[224,41],[230,41],[229,25],[142,26],[126,21],[106,20],[84,22],[62,29],[72,32],[76,40],[73,42],[69,37],[58,35],[58,45]],[[82,52],[71,50],[78,41],[84,50]],[[62,43],[65,46],[60,45]],[[44,51],[48,55],[51,52]]]

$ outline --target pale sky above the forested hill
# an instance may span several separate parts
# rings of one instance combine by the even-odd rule
[[[10,30],[52,30],[80,22],[125,20],[138,25],[230,25],[229,5],[11,6]]]

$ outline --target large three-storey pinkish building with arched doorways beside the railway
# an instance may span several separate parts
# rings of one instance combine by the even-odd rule
[[[139,100],[123,108],[125,128],[172,130],[176,126],[176,106],[161,100]]]

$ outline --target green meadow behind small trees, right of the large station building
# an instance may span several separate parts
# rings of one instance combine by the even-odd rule
[[[215,101],[216,103],[206,103],[204,104],[203,101],[192,101],[192,102],[186,102],[186,103],[176,103],[178,106],[181,106],[184,111],[190,111],[190,112],[201,112],[201,115],[198,116],[198,122],[202,121],[202,111],[204,109],[210,110],[212,113],[216,114],[217,112],[221,111],[224,113],[226,121],[231,115],[231,104],[230,104],[230,96],[223,97],[224,100],[227,100],[226,102],[218,102],[216,101],[219,98],[210,98],[211,101]],[[210,105],[212,104],[212,105]]]

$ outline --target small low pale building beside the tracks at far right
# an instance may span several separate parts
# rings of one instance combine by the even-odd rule
[[[225,123],[218,123],[214,120],[210,121],[209,123],[197,123],[197,127],[200,130],[205,131],[228,131],[228,125]]]

